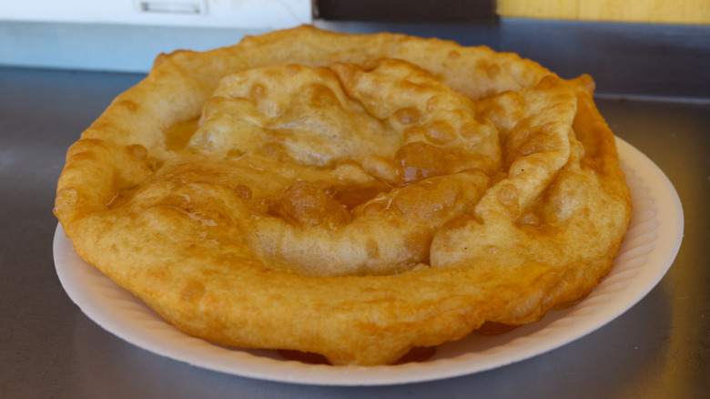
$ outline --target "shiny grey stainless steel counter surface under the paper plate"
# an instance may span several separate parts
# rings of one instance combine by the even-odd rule
[[[425,384],[323,387],[215,373],[106,333],[66,296],[52,207],[66,148],[138,75],[0,68],[0,397],[710,397],[710,104],[602,97],[614,132],[675,185],[685,240],[621,317],[553,352]]]

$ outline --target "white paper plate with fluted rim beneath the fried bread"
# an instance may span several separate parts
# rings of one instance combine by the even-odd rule
[[[147,351],[198,367],[263,380],[323,385],[406,384],[482,372],[546,353],[611,322],[654,288],[683,237],[683,209],[671,182],[644,154],[617,139],[634,216],[614,270],[583,302],[541,322],[493,336],[442,344],[431,359],[396,366],[335,367],[284,360],[274,351],[233,350],[180,333],[82,261],[64,230],[54,240],[56,272],[82,312]]]

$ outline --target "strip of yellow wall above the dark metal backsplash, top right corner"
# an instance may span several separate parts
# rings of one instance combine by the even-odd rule
[[[509,17],[710,24],[710,0],[498,0]]]

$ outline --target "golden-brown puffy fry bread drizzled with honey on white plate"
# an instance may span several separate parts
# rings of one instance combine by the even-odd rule
[[[397,363],[583,298],[630,215],[593,80],[313,26],[157,57],[69,148],[77,253],[179,330]]]

